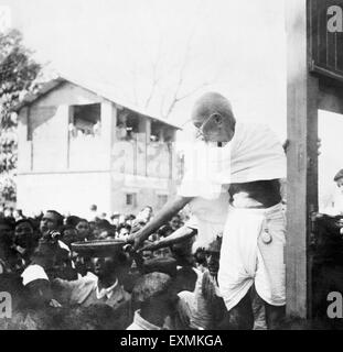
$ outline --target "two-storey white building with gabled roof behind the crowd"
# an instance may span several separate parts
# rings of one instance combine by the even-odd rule
[[[86,216],[158,209],[175,191],[176,125],[65,78],[18,106],[18,208]]]

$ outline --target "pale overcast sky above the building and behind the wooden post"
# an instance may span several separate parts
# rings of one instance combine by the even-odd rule
[[[182,92],[204,81],[210,85],[180,103],[172,121],[186,121],[194,99],[217,90],[232,100],[237,119],[268,123],[286,139],[283,0],[0,0],[0,4],[10,8],[12,25],[22,31],[36,57],[57,72],[101,81],[124,100],[133,101],[136,95],[142,103],[158,63],[159,86],[150,110],[159,116],[161,100],[168,101],[173,92],[187,54]],[[343,167],[334,144],[343,120],[321,121],[321,180],[331,187],[331,174]]]

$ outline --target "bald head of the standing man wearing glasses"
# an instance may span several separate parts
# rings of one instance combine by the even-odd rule
[[[231,102],[217,92],[207,92],[195,102],[192,121],[205,142],[229,142],[235,133]]]

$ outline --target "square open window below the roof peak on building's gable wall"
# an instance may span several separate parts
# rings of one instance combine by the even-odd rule
[[[99,135],[101,130],[100,122],[100,103],[71,107],[69,132],[72,136]]]

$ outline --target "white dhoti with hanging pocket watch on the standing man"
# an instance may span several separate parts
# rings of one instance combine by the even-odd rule
[[[254,282],[265,301],[272,306],[286,304],[285,243],[281,205],[268,209],[229,208],[218,272],[227,310],[240,301]]]

